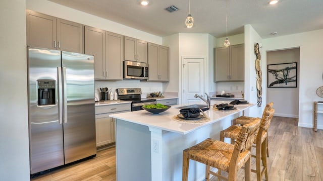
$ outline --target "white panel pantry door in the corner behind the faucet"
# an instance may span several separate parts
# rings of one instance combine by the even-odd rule
[[[204,95],[204,58],[184,58],[182,63],[183,104],[200,102],[195,94]]]

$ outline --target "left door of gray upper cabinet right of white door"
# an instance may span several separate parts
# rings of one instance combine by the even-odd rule
[[[214,54],[216,59],[214,63],[214,80],[229,80],[229,48],[216,48]]]

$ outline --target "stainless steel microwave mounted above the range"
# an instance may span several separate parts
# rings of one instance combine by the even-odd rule
[[[148,64],[135,61],[124,61],[125,79],[148,79]]]

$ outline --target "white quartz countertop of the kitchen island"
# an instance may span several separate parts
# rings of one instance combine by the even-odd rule
[[[211,101],[211,105],[222,104],[222,103],[229,103],[229,102]],[[214,110],[211,107],[210,110],[205,111],[205,113],[209,117],[209,120],[201,123],[197,123],[193,121],[189,121],[189,122],[178,121],[176,119],[176,116],[180,114],[179,112],[180,109],[177,107],[182,107],[182,106],[184,105],[172,106],[169,110],[159,114],[152,114],[145,110],[141,110],[141,111],[133,111],[133,112],[127,112],[127,113],[120,113],[120,114],[112,114],[109,116],[112,118],[121,119],[124,121],[132,122],[140,125],[145,125],[148,127],[158,128],[165,131],[187,134],[203,126],[215,123],[226,117],[240,113],[241,111],[244,111],[254,106],[254,104],[235,105],[237,109],[233,111],[218,111],[218,110]]]

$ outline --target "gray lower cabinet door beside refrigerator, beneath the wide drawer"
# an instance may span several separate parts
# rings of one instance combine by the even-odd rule
[[[96,147],[115,142],[114,119],[109,114],[96,115]]]

